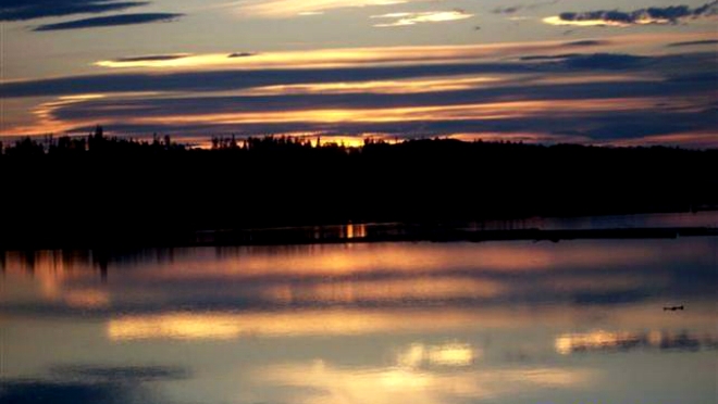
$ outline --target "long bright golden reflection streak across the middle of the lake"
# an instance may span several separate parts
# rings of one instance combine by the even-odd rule
[[[166,313],[112,318],[113,341],[226,340],[239,337],[339,337],[451,330],[494,324],[492,315],[455,310],[307,310],[274,313]],[[500,319],[498,319],[500,321]]]

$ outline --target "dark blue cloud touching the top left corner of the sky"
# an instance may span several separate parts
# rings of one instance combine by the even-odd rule
[[[25,21],[86,13],[106,13],[149,4],[117,0],[2,0],[0,21]]]

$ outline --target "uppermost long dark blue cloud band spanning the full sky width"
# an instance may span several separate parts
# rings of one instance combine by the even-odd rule
[[[566,59],[567,55],[571,58]],[[564,58],[566,60],[560,60],[560,63],[504,61],[342,68],[218,70],[174,72],[163,75],[116,73],[3,83],[2,94],[4,98],[10,99],[133,91],[231,91],[263,86],[359,83],[436,76],[541,73],[560,75],[591,70],[619,71],[628,68],[641,71],[648,66],[657,73],[681,72],[684,76],[691,74],[691,68],[697,68],[698,73],[704,73],[715,62],[715,53],[713,52],[663,56],[634,56],[612,53],[564,54]]]

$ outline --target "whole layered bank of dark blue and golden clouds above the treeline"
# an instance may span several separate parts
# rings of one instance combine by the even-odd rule
[[[26,121],[7,123],[4,134],[84,132],[101,124],[120,132],[195,137],[371,132],[667,141],[672,134],[714,130],[716,73],[709,49],[669,52],[666,46],[711,40],[715,35],[642,34],[252,56],[237,51],[236,58],[230,51],[131,54],[107,63],[132,71],[3,83],[5,102],[30,111]]]

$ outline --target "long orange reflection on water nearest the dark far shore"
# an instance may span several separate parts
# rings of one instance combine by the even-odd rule
[[[357,231],[356,228],[354,230]],[[702,245],[696,249],[704,250]],[[708,251],[708,250],[705,250]],[[451,268],[474,272],[533,272],[557,267],[595,268],[658,262],[655,251],[640,244],[572,244],[560,248],[530,242],[487,244],[380,243],[301,245],[290,248],[219,249],[210,254],[174,265],[158,263],[148,278],[236,278],[250,279],[283,275],[292,279],[317,276],[440,274]],[[688,254],[672,249],[671,253]],[[211,250],[205,253],[212,253]]]

